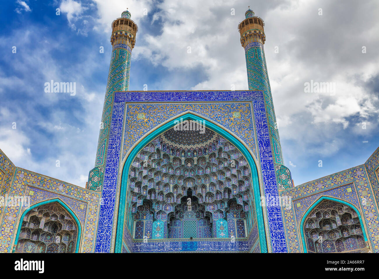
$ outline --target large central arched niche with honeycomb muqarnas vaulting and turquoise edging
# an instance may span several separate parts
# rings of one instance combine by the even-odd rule
[[[246,238],[255,224],[261,251],[267,251],[254,159],[231,134],[196,117],[188,113],[182,121],[189,119],[189,127],[204,121],[204,129],[167,123],[129,154],[115,252],[121,252],[127,230],[136,240]],[[234,235],[229,236],[232,222]]]

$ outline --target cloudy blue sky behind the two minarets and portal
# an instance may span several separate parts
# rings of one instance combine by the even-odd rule
[[[129,8],[138,25],[130,90],[144,84],[148,90],[230,90],[232,84],[246,90],[237,25],[248,5],[265,20],[279,135],[295,185],[363,164],[379,145],[379,4],[366,0],[3,1],[0,148],[16,166],[85,186],[113,19]],[[76,82],[76,95],[45,93],[50,80]],[[305,93],[310,80],[334,82],[336,94]]]

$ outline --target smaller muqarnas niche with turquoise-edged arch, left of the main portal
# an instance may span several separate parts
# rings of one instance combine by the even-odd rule
[[[80,234],[80,222],[67,205],[59,199],[40,202],[22,214],[14,252],[75,253]]]

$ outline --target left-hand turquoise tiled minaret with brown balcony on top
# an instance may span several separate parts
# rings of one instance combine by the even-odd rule
[[[89,172],[87,188],[100,191],[102,185],[103,165],[110,131],[111,104],[113,103],[113,91],[128,91],[130,58],[136,42],[138,27],[130,19],[130,12],[123,11],[121,17],[112,22],[112,55],[106,85],[103,115],[100,123],[100,135],[97,145],[95,168]]]

